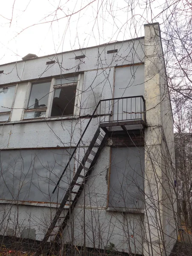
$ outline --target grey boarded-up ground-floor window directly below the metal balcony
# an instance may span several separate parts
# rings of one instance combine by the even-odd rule
[[[109,207],[142,209],[144,148],[111,148]]]

